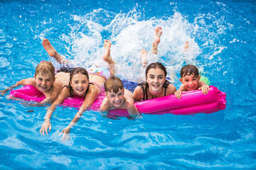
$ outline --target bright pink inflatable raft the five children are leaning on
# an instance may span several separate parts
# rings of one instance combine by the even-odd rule
[[[196,113],[213,113],[225,109],[225,93],[219,91],[215,86],[210,86],[210,91],[207,95],[202,94],[200,90],[186,91],[180,99],[174,95],[154,98],[147,101],[134,103],[138,108],[139,113],[162,115],[172,113],[174,115],[191,115]],[[26,101],[41,102],[45,96],[33,86],[24,86],[21,89],[12,90],[10,96],[22,98]],[[105,95],[100,94],[90,109],[97,111],[100,108],[100,103]],[[82,105],[84,98],[73,97],[66,98],[63,106],[79,108]],[[117,116],[129,116],[129,113],[123,109],[109,111],[108,116],[115,118]]]

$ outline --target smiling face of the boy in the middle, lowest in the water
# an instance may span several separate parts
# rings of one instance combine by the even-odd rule
[[[119,108],[122,106],[122,103],[124,103],[124,89],[119,89],[117,93],[114,93],[113,91],[107,91],[106,98],[110,101],[112,106]]]

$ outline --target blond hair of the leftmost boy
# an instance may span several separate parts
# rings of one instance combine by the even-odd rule
[[[49,76],[52,76],[54,79],[55,67],[53,66],[53,64],[51,62],[41,61],[36,66],[35,76],[37,76],[38,74],[49,75]]]

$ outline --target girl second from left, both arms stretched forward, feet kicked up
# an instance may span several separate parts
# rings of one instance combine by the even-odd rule
[[[43,40],[43,47],[46,49],[50,57],[54,57],[55,60],[57,60],[60,64],[68,64],[68,60],[66,60],[61,55],[58,55],[58,52],[56,52],[53,46],[50,45],[50,42],[47,39]],[[41,135],[44,135],[45,132],[46,134],[48,134],[48,131],[50,132],[50,117],[58,104],[63,103],[67,96],[82,96],[85,98],[85,101],[79,108],[78,113],[75,115],[71,123],[60,132],[60,135],[63,134],[62,140],[67,140],[69,138],[70,129],[75,125],[75,123],[78,122],[82,114],[87,111],[90,106],[92,106],[95,98],[97,98],[97,96],[102,93],[102,85],[107,80],[107,78],[114,74],[114,61],[110,56],[110,41],[105,40],[104,47],[105,53],[103,55],[103,60],[107,62],[109,69],[105,67],[97,67],[95,65],[92,65],[87,70],[82,67],[76,67],[72,69],[70,72],[69,86],[65,86],[63,88],[58,98],[53,102],[50,108],[48,108],[45,121],[40,130]]]

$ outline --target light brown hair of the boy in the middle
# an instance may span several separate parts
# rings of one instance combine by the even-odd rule
[[[124,84],[122,83],[121,79],[118,77],[112,76],[110,79],[107,79],[104,83],[105,92],[113,91],[115,94],[119,91],[119,89],[124,89]]]

